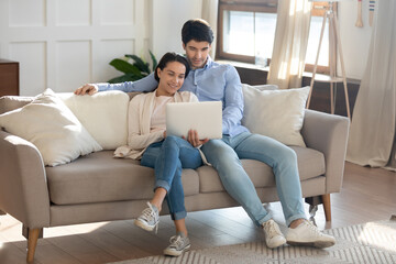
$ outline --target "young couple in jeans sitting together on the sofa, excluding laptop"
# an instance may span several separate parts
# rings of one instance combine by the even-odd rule
[[[160,61],[155,73],[141,80],[114,85],[89,84],[75,91],[76,95],[112,89],[125,92],[152,91],[139,95],[130,102],[130,122],[133,119],[140,128],[133,132],[129,145],[133,148],[133,156],[141,157],[142,165],[154,167],[156,178],[154,197],[135,224],[154,230],[166,199],[176,226],[176,235],[170,238],[170,245],[164,250],[164,254],[177,256],[190,248],[180,175],[183,168],[197,168],[202,164],[197,148],[201,146],[200,151],[217,169],[226,190],[263,229],[268,248],[278,248],[285,243],[316,248],[333,245],[333,237],[321,233],[306,219],[295,152],[271,138],[250,133],[241,124],[241,80],[234,67],[215,63],[209,56],[213,41],[210,25],[204,20],[187,21],[182,29],[182,41],[187,59],[167,53]],[[197,101],[197,98],[199,101],[223,102],[223,138],[200,141],[196,131],[189,131],[187,139],[166,136],[164,106],[167,102]],[[133,116],[131,109],[134,109]],[[261,161],[273,168],[288,226],[286,238],[271,213],[264,209],[242,167],[241,158]]]

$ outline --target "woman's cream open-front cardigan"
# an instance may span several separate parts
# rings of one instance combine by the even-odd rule
[[[198,98],[189,91],[174,95],[174,102],[197,101]],[[164,139],[164,131],[150,133],[154,102],[155,91],[140,94],[132,98],[128,110],[128,145],[118,147],[114,152],[116,157],[140,160],[150,144]]]

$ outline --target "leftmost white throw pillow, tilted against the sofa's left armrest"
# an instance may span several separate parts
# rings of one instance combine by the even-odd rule
[[[0,125],[32,142],[44,165],[69,163],[80,155],[102,150],[65,103],[51,89],[31,103],[0,114]]]

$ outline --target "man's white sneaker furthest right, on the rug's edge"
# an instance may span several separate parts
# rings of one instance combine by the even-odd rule
[[[295,229],[288,229],[287,243],[290,245],[307,245],[315,248],[329,248],[336,244],[336,239],[323,234],[308,220],[305,220]]]

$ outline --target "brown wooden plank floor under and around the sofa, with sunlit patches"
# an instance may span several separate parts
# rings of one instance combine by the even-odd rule
[[[331,195],[332,221],[326,222],[320,206],[316,223],[320,229],[338,228],[388,219],[396,215],[394,172],[345,164],[342,191]],[[278,202],[266,205],[277,222],[285,221]],[[308,211],[308,206],[306,207]],[[188,213],[187,228],[193,249],[260,241],[264,235],[241,208]],[[25,263],[26,241],[22,226],[10,216],[0,216],[0,263]],[[44,230],[34,263],[107,263],[162,254],[174,234],[168,216],[161,217],[158,233],[133,226],[132,220],[67,226]]]

